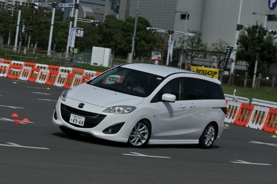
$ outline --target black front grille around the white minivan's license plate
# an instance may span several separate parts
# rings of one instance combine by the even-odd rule
[[[83,111],[80,109],[75,109],[63,103],[61,103],[61,114],[62,114],[63,120],[66,123],[69,123],[71,114],[85,117],[84,126],[74,124],[74,123],[69,123],[73,126],[80,127],[80,128],[93,128],[97,126],[100,122],[102,122],[102,120],[106,117],[106,115],[103,115],[103,114],[96,114],[92,112]]]

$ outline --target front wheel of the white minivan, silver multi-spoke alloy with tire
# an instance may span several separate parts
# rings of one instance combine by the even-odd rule
[[[128,144],[132,147],[143,147],[149,142],[150,137],[150,123],[147,121],[140,121],[133,127],[128,138]]]

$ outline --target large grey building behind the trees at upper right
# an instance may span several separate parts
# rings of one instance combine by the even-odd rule
[[[239,24],[266,23],[268,29],[277,29],[277,21],[272,18],[276,13],[270,10],[269,1],[276,6],[275,0],[242,0]],[[147,18],[155,28],[201,31],[202,40],[208,45],[222,39],[234,46],[239,7],[240,0],[140,0],[138,16]],[[119,18],[135,17],[136,9],[137,0],[121,0]],[[174,40],[178,38],[173,36]]]

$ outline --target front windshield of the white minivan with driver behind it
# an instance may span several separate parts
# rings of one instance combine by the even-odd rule
[[[119,66],[87,83],[128,95],[148,97],[163,80],[164,77],[158,75]]]

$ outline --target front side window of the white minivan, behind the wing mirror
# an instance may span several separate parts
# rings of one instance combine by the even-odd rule
[[[165,93],[175,95],[176,101],[183,100],[183,79],[176,78],[168,82],[159,92],[159,101]]]

